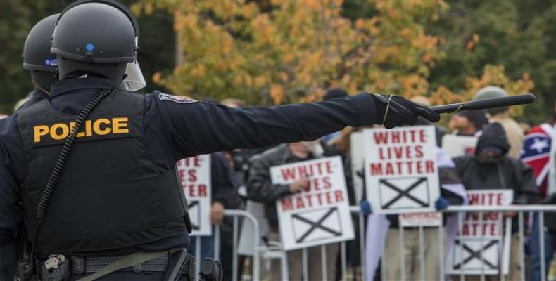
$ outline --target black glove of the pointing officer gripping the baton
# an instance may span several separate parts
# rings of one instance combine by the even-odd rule
[[[440,121],[440,115],[429,107],[418,105],[402,96],[385,96],[373,93],[374,100],[377,101],[377,118],[386,128],[391,129],[396,126],[415,125],[417,117],[423,117],[430,122]]]

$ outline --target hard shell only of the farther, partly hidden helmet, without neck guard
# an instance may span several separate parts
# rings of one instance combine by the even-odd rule
[[[58,20],[58,14],[44,18],[37,22],[27,34],[25,46],[23,46],[23,68],[25,70],[56,72],[56,55],[50,53],[56,20]]]

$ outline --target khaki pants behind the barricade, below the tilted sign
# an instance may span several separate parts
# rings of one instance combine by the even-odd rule
[[[279,241],[279,234],[277,232],[270,232],[268,240]],[[325,253],[325,268],[322,268],[321,261],[321,247],[311,247],[307,249],[307,266],[308,266],[308,280],[324,280],[322,273],[326,271],[326,280],[334,280],[336,278],[336,257],[339,253],[339,243],[327,244],[324,249]],[[269,264],[270,263],[270,264]],[[268,267],[270,265],[270,268]],[[280,260],[261,260],[261,280],[275,281],[275,280],[303,280],[303,250],[288,251],[288,277],[282,278]]]

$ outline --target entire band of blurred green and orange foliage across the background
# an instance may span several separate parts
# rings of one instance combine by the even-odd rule
[[[35,22],[66,0],[0,0],[1,110],[30,90],[21,51]],[[472,98],[482,86],[532,92],[514,115],[543,122],[556,93],[556,1],[127,0],[139,16],[149,86],[253,105],[350,93]]]

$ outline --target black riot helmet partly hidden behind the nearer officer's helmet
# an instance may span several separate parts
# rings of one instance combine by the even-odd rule
[[[50,53],[52,33],[57,19],[58,14],[37,22],[27,34],[25,46],[23,46],[23,68],[29,70],[39,89],[47,93],[50,91],[50,86],[58,81],[56,79],[56,55]]]

